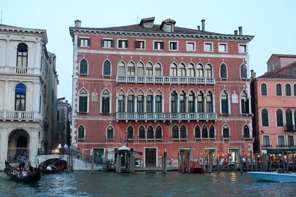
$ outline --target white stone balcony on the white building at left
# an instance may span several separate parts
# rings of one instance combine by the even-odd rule
[[[3,121],[39,121],[38,111],[0,111],[0,120]]]

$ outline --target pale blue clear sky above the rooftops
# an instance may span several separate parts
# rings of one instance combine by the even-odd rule
[[[197,29],[205,19],[205,30],[255,36],[249,43],[249,66],[263,75],[271,54],[296,55],[296,1],[2,1],[2,24],[45,29],[47,50],[56,54],[58,98],[72,103],[73,43],[69,27],[106,28],[133,25],[156,17],[154,24],[172,19],[177,27]],[[138,21],[137,21],[138,17]]]

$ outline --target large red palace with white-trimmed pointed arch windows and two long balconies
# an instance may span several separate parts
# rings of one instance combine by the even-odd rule
[[[126,132],[143,167],[162,153],[247,154],[253,149],[248,43],[253,36],[175,26],[70,27],[72,141],[85,153],[121,147]],[[234,155],[234,154],[232,154]],[[222,154],[220,154],[222,156]],[[108,155],[114,159],[114,155]],[[226,158],[226,156],[222,157]]]

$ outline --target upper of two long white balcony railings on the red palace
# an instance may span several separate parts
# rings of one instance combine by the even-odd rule
[[[215,77],[116,75],[116,83],[215,84]]]

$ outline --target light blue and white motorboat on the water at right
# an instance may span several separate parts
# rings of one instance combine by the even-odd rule
[[[296,182],[296,173],[281,174],[277,172],[247,172],[255,180],[276,182]]]

